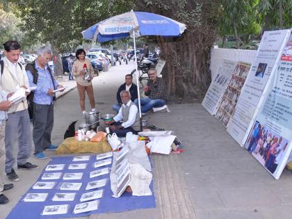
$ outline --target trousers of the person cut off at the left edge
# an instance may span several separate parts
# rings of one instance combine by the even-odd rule
[[[0,195],[3,193],[5,171],[5,120],[0,124]]]

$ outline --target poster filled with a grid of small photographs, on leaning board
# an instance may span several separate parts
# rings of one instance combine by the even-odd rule
[[[231,75],[231,79],[225,89],[222,99],[220,100],[218,111],[215,115],[216,118],[226,127],[230,117],[234,113],[241,88],[245,83],[245,79],[250,71],[250,64],[237,63]]]

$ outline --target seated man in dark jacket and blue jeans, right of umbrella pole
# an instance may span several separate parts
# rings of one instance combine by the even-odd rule
[[[148,71],[149,81],[145,86],[145,95],[148,97],[141,98],[141,112],[146,113],[152,108],[162,107],[165,105],[166,87],[162,78],[157,76],[155,68],[150,68]],[[135,99],[135,104],[138,106],[138,99]]]

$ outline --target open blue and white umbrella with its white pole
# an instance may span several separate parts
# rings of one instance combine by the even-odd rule
[[[106,42],[122,38],[133,38],[134,53],[136,56],[136,37],[143,35],[160,35],[163,37],[178,37],[186,30],[186,24],[179,23],[168,17],[154,13],[135,12],[109,17],[102,22],[90,26],[82,31],[85,40]],[[136,62],[135,62],[136,63]],[[136,63],[136,72],[138,66]],[[138,86],[138,76],[136,77]],[[139,115],[141,121],[140,93],[138,91]]]

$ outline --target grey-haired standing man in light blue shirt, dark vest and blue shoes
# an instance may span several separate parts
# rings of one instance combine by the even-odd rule
[[[51,49],[40,47],[37,50],[38,58],[34,63],[26,65],[26,74],[29,85],[36,87],[31,94],[30,102],[33,104],[33,143],[35,145],[35,158],[47,159],[44,150],[57,149],[51,145],[51,131],[54,125],[55,91],[63,88],[59,85],[48,63],[51,60]]]

